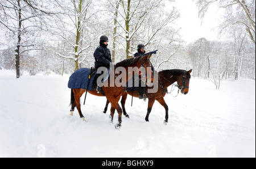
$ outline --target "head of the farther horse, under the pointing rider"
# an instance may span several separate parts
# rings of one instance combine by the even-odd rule
[[[184,71],[184,74],[181,74],[179,79],[177,80],[177,84],[179,89],[181,90],[181,94],[184,94],[184,95],[188,94],[191,72],[192,72],[192,69],[189,71]]]

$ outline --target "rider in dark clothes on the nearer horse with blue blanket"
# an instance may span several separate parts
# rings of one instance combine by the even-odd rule
[[[99,67],[106,67],[109,68],[110,64],[112,64],[111,53],[108,48],[109,38],[106,35],[102,35],[100,37],[100,45],[94,51],[93,56],[95,58],[94,68],[97,70]],[[93,82],[94,89],[97,90],[97,78],[101,74],[96,74],[96,77]],[[96,88],[95,88],[96,87]]]

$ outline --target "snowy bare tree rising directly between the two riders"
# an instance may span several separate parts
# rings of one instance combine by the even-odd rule
[[[179,14],[175,9],[170,10],[171,12],[159,11],[164,8],[163,0],[121,0],[120,2],[121,7],[115,8],[118,12],[118,19],[115,21],[121,28],[119,37],[125,41],[126,58],[131,57],[132,50],[135,48],[133,41],[137,41],[137,43],[138,41],[143,41],[147,46],[168,23],[179,18]],[[154,27],[148,24],[148,20]]]

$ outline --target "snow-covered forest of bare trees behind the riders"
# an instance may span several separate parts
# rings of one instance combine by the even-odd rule
[[[201,37],[186,43],[175,23],[174,0],[0,0],[0,69],[71,74],[94,66],[101,35],[109,37],[115,63],[132,57],[137,45],[155,69],[193,69],[193,77],[255,79],[255,0],[195,0],[199,17],[208,7],[225,9],[218,30],[226,40]]]

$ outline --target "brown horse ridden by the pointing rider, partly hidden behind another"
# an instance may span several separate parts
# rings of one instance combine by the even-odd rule
[[[166,94],[167,94],[167,87],[169,87],[174,82],[177,82],[176,86],[179,88],[179,90],[181,90],[181,93],[184,95],[188,94],[189,80],[191,78],[191,75],[190,75],[191,72],[192,72],[192,69],[189,71],[180,70],[180,69],[172,69],[172,70],[163,70],[158,73],[158,81],[155,78],[155,82],[154,82],[154,85],[158,85],[158,90],[157,90],[157,92],[148,94],[148,108],[147,108],[147,115],[145,118],[146,121],[149,121],[148,117],[150,115],[152,106],[155,103],[155,100],[157,100],[164,107],[164,109],[166,109],[166,120],[164,120],[164,124],[167,124],[167,122],[168,122],[168,105],[164,101],[164,96],[166,96]],[[152,88],[152,87],[147,87],[147,88]],[[127,94],[129,94],[131,96],[133,95],[134,97],[139,98],[139,92],[138,92],[138,90],[137,91],[126,91],[126,93],[123,94],[123,96],[122,96],[121,104],[122,104],[122,108],[123,108],[123,114],[126,117],[129,117],[129,115],[127,115],[126,110],[125,110],[125,102],[126,102]],[[107,100],[107,102],[106,102],[106,107],[104,109],[104,113],[106,113],[106,111],[108,109],[108,104],[109,104],[109,100]],[[110,112],[111,112],[111,115],[113,116],[114,112],[115,112],[115,108],[111,107]]]

